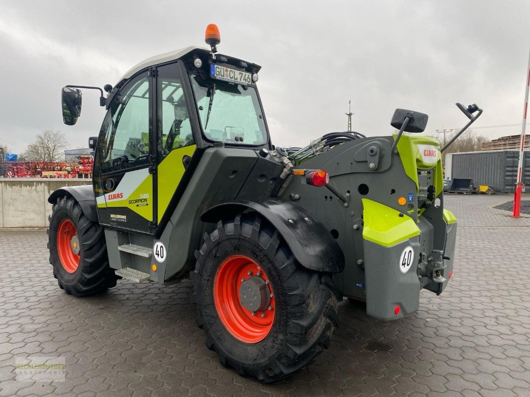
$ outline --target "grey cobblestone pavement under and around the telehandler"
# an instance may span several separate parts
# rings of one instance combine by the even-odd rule
[[[205,347],[191,283],[119,281],[83,299],[57,287],[43,231],[0,232],[0,395],[530,395],[530,216],[511,196],[449,196],[459,219],[454,276],[392,322],[340,304],[331,348],[275,385],[242,378]],[[16,382],[15,357],[66,358],[66,381]]]

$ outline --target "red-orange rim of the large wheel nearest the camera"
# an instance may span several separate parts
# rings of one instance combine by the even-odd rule
[[[249,272],[267,283],[270,303],[263,311],[252,312],[241,304],[240,287],[249,278]],[[234,255],[219,266],[214,280],[214,302],[220,320],[234,338],[257,343],[269,335],[276,311],[274,294],[269,278],[254,260]]]

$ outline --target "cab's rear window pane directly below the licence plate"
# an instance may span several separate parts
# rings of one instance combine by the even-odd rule
[[[264,145],[267,130],[254,87],[191,76],[206,138],[238,145]],[[208,115],[209,113],[209,115]]]

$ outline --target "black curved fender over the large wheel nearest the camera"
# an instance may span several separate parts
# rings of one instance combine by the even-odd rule
[[[319,272],[340,273],[344,270],[344,254],[330,231],[293,202],[280,199],[234,201],[211,207],[200,219],[216,223],[249,210],[258,212],[278,230],[302,266]]]

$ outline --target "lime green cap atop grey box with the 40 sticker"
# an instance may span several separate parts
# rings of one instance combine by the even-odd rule
[[[420,234],[420,229],[412,218],[403,216],[391,207],[368,198],[363,198],[363,207],[365,240],[391,247]]]

